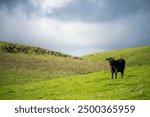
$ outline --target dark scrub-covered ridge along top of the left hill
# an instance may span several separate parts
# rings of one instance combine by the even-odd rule
[[[69,57],[73,59],[81,59],[80,57],[76,57],[73,55],[65,54],[62,52],[57,52],[37,46],[21,44],[21,43],[14,43],[14,42],[6,42],[0,41],[0,50],[9,53],[24,53],[24,54],[36,54],[36,55],[54,55],[60,57]]]

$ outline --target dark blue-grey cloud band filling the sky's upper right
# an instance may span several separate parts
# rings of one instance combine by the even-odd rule
[[[64,20],[112,21],[138,13],[149,13],[150,0],[75,0],[49,16]]]

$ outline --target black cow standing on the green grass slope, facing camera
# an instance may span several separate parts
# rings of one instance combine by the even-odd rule
[[[125,63],[126,63],[125,60],[122,58],[115,60],[114,58],[111,58],[111,57],[106,58],[106,60],[108,61],[110,65],[112,79],[113,79],[114,73],[115,73],[115,78],[117,79],[117,72],[121,72],[121,78],[123,78]]]

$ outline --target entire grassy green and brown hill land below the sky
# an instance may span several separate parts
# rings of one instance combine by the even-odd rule
[[[9,46],[17,49],[7,50]],[[150,99],[150,46],[82,59],[37,49],[0,42],[0,99]],[[110,79],[105,61],[110,56],[126,59],[123,79],[120,74]]]

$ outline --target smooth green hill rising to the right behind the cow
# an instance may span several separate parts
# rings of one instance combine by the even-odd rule
[[[105,61],[107,57],[122,57],[127,61],[127,66],[150,64],[150,46],[136,46],[83,56],[85,59],[95,61]]]

